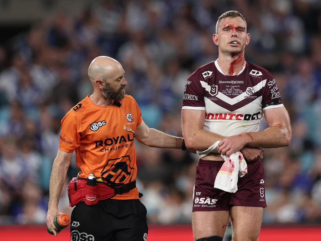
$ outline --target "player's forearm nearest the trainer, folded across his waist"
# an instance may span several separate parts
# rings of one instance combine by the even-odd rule
[[[204,151],[216,141],[224,138],[224,136],[203,129],[187,129],[186,131],[183,129],[183,136],[186,147],[197,151]]]

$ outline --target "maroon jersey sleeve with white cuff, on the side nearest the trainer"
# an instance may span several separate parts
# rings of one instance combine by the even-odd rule
[[[187,78],[182,110],[205,110],[204,88],[194,72]]]

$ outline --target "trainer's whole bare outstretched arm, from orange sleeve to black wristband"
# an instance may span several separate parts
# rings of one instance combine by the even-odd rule
[[[137,126],[135,138],[149,147],[181,149],[183,138],[171,136],[160,130],[149,128],[144,121]]]

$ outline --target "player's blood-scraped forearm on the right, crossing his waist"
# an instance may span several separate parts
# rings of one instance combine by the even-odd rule
[[[263,148],[286,147],[290,144],[292,137],[291,127],[283,127],[281,125],[242,135],[246,138],[246,145]]]

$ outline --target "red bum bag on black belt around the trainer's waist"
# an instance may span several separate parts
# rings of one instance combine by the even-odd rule
[[[114,188],[107,183],[96,182],[96,186],[87,185],[87,179],[73,177],[68,185],[69,206],[74,207],[77,203],[85,201],[87,205],[94,205],[100,200],[112,198],[133,190],[136,181]]]

